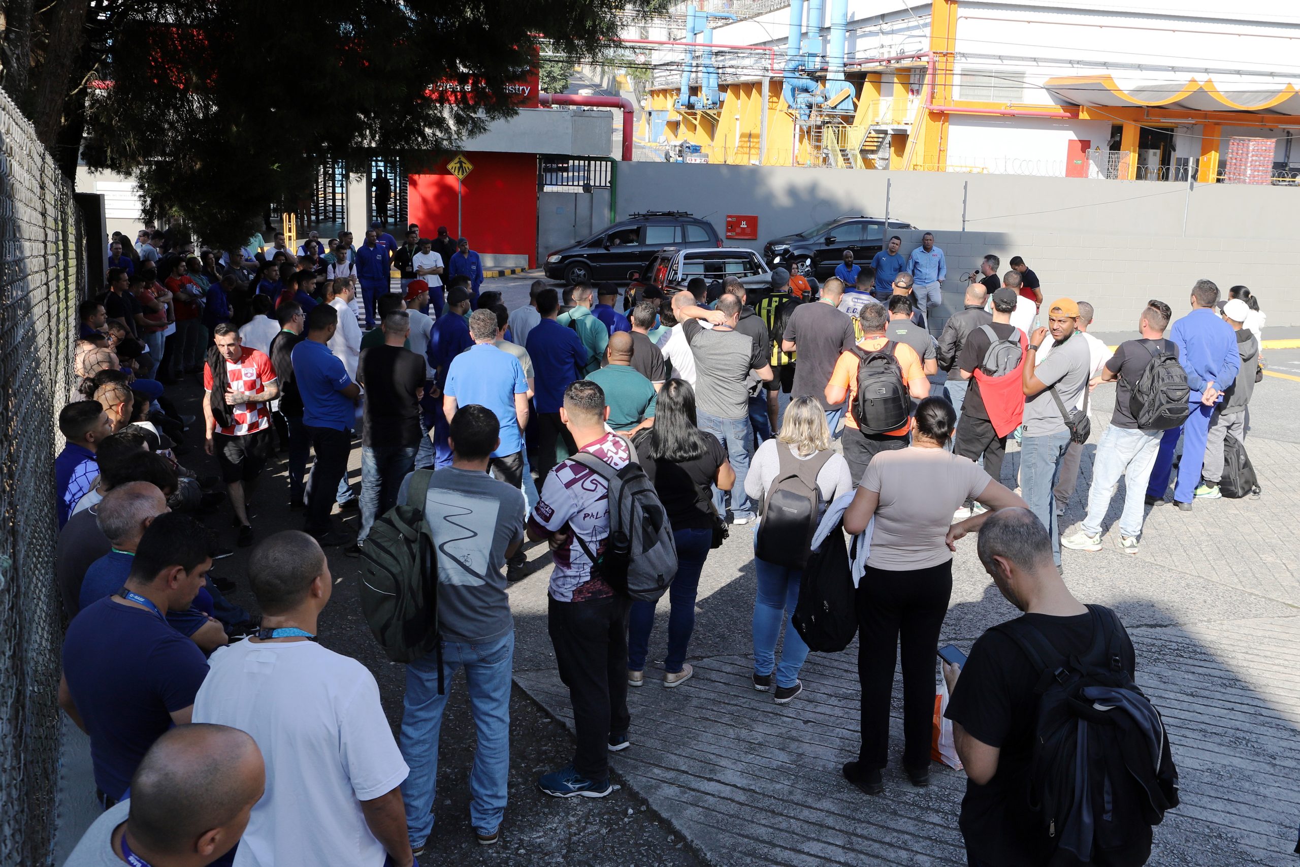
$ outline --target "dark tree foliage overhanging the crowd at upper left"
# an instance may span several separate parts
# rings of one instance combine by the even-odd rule
[[[538,56],[537,34],[558,53],[595,53],[623,6],[146,0],[101,65],[112,86],[91,94],[83,153],[133,175],[156,214],[234,244],[268,203],[304,203],[326,159],[358,172],[374,153],[432,165],[514,113],[507,88]],[[430,97],[438,82],[472,86],[474,104]]]

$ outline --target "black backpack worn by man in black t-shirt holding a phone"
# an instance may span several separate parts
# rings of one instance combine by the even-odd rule
[[[1024,619],[993,627],[1039,671],[1026,806],[1046,863],[1138,867],[1152,827],[1178,806],[1178,770],[1160,712],[1124,671],[1123,625],[1109,608],[1088,611],[1092,647],[1069,659]]]

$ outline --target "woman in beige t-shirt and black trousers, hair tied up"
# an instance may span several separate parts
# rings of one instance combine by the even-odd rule
[[[953,591],[953,551],[962,536],[993,510],[1024,500],[968,458],[944,450],[957,413],[942,398],[916,408],[911,446],[871,459],[845,533],[861,533],[875,516],[867,569],[858,584],[858,681],[862,685],[862,749],[844,766],[849,783],[867,794],[884,792],[889,749],[889,695],[902,638],[902,766],[913,785],[930,784],[930,729],[935,714],[935,651]],[[974,499],[991,511],[952,524]]]

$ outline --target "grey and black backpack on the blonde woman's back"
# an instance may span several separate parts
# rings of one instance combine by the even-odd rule
[[[822,506],[816,476],[835,452],[827,448],[800,460],[788,445],[776,441],[776,454],[780,467],[763,497],[754,556],[788,569],[802,569],[811,554]]]

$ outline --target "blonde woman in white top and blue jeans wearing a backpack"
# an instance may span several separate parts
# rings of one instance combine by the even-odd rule
[[[812,396],[790,400],[781,420],[781,433],[776,439],[767,439],[749,467],[745,477],[745,493],[755,503],[766,499],[776,481],[781,465],[781,452],[788,452],[798,460],[824,461],[816,474],[818,491],[822,495],[822,512],[837,497],[853,490],[853,477],[844,458],[831,451],[831,429],[826,425],[826,411]],[[759,510],[762,513],[762,508]],[[820,517],[820,515],[819,515]],[[754,534],[755,542],[762,524]],[[772,689],[772,675],[776,675],[776,703],[786,705],[802,692],[800,669],[809,655],[794,624],[786,619],[785,646],[781,650],[781,663],[776,664],[776,637],[781,632],[783,615],[793,615],[800,601],[800,580],[802,569],[792,569],[754,556],[754,571],[758,573],[758,591],[754,595],[754,689],[766,693]]]

